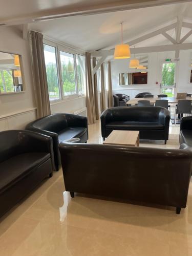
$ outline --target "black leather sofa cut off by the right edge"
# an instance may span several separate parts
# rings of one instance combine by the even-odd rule
[[[179,143],[180,148],[192,147],[192,116],[181,118]]]

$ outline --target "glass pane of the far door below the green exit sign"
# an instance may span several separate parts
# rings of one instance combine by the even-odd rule
[[[163,63],[162,65],[162,94],[167,94],[168,97],[174,96],[175,87],[175,62]]]

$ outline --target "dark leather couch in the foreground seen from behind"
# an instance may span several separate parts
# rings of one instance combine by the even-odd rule
[[[188,151],[81,143],[61,143],[59,150],[72,197],[77,192],[168,205],[177,207],[178,214],[186,207]]]

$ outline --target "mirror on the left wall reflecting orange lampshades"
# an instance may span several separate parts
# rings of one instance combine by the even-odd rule
[[[0,94],[23,92],[23,81],[21,56],[0,52]]]

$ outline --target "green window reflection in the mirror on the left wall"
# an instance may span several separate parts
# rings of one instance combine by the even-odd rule
[[[14,79],[12,70],[0,70],[0,91],[14,92]]]

